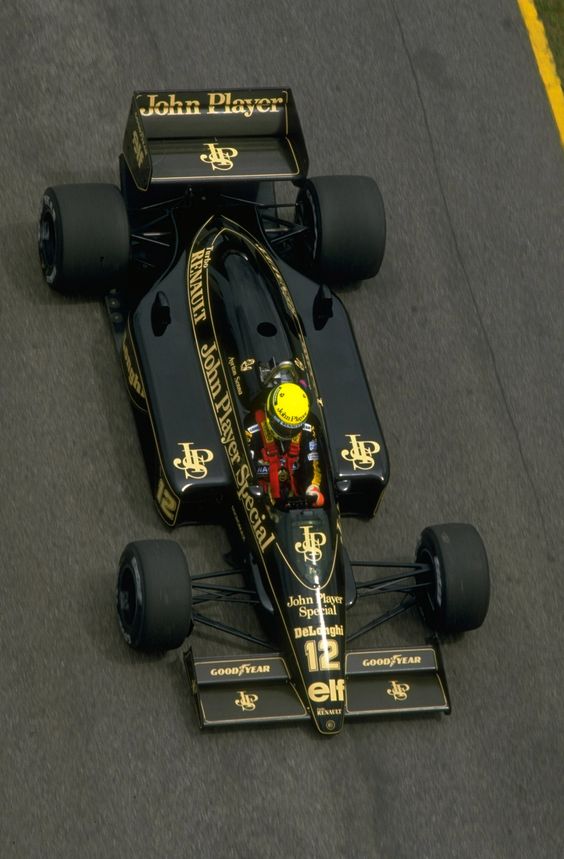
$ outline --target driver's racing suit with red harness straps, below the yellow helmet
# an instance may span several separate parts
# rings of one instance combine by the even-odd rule
[[[321,485],[317,437],[313,424],[306,423],[290,441],[273,434],[262,410],[255,423],[246,427],[246,437],[256,476],[273,502],[283,501]],[[321,499],[323,496],[321,496]]]

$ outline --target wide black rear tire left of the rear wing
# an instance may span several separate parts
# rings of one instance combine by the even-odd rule
[[[49,286],[64,295],[104,295],[129,265],[129,223],[119,190],[100,184],[47,188],[38,241]]]

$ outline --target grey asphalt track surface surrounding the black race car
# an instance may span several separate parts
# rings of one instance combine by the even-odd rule
[[[0,855],[564,855],[563,169],[514,0],[4,0],[0,41]],[[346,303],[392,479],[346,543],[409,558],[470,521],[493,577],[445,644],[452,715],[332,740],[201,734],[179,654],[120,639],[120,551],[169,535],[103,309],[35,247],[44,187],[116,181],[134,88],[288,84],[311,175],[375,176],[388,214]],[[219,529],[174,536],[223,564]]]

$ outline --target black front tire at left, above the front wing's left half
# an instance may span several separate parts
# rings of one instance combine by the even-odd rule
[[[192,581],[178,543],[141,540],[125,547],[117,612],[121,633],[136,650],[180,647],[192,629]]]

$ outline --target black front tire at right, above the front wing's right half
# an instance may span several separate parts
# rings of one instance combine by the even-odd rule
[[[425,528],[416,562],[432,568],[420,605],[433,629],[457,633],[482,625],[490,601],[490,574],[482,538],[472,525]]]

